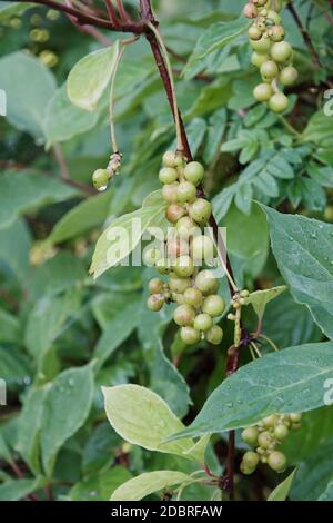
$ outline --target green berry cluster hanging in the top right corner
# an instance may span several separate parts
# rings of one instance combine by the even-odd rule
[[[291,65],[293,50],[284,40],[279,11],[281,3],[274,0],[251,0],[244,7],[244,14],[254,19],[249,29],[253,53],[251,61],[260,69],[263,82],[259,83],[253,96],[258,101],[268,102],[274,112],[287,108],[287,97],[279,88],[292,86],[297,79],[297,70]]]

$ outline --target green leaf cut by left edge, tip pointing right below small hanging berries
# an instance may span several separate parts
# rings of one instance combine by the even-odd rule
[[[9,227],[24,213],[77,195],[77,189],[57,178],[31,171],[4,171],[0,177],[0,229]]]

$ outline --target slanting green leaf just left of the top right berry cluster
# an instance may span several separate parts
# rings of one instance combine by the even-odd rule
[[[244,17],[240,17],[232,21],[213,23],[198,40],[184,72],[206,55],[218,49],[222,49],[224,46],[233,41],[240,34],[245,32],[248,27],[249,20]]]

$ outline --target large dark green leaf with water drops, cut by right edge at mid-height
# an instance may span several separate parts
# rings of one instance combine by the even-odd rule
[[[263,209],[273,254],[293,297],[309,307],[323,333],[332,338],[333,225]]]

